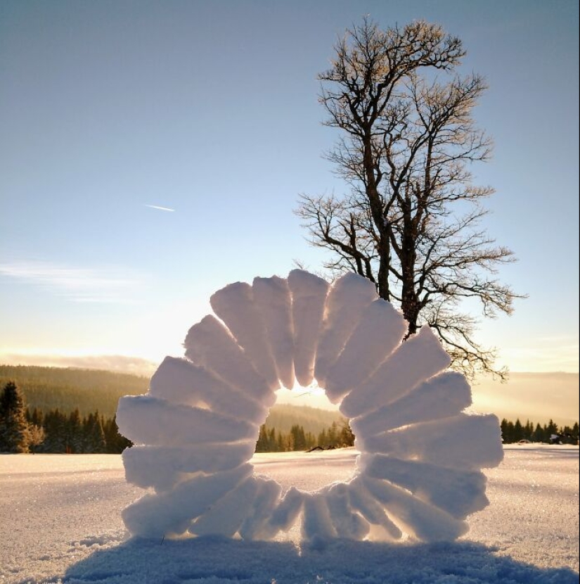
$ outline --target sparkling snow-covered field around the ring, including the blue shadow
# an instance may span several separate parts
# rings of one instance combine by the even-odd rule
[[[257,455],[283,486],[352,473],[353,450]],[[127,540],[120,511],[142,491],[120,456],[0,456],[0,584],[569,584],[579,581],[579,450],[508,446],[486,471],[491,504],[453,544]]]

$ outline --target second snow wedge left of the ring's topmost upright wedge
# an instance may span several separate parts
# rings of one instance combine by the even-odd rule
[[[266,379],[269,388],[273,391],[278,389],[280,383],[276,364],[266,338],[262,315],[254,305],[252,286],[245,282],[228,284],[212,294],[210,304],[236,337],[238,345],[243,348],[254,369]]]

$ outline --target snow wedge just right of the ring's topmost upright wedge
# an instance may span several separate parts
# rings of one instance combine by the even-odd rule
[[[330,288],[314,366],[319,386],[326,387],[330,367],[354,331],[363,309],[376,298],[373,282],[352,272],[337,279]]]

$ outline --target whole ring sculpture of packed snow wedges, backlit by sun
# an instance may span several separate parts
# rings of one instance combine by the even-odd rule
[[[214,293],[166,357],[146,395],[119,402],[135,446],[127,481],[153,488],[122,515],[133,535],[270,539],[302,521],[302,538],[454,540],[483,509],[481,469],[503,458],[498,419],[467,414],[470,386],[424,326],[406,322],[356,274],[333,286],[295,269]],[[255,476],[259,426],[281,384],[314,379],[350,421],[361,454],[352,480],[314,493]]]

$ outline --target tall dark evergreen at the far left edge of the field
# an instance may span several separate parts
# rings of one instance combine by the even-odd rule
[[[0,395],[0,452],[28,452],[30,427],[24,396],[13,381]]]

